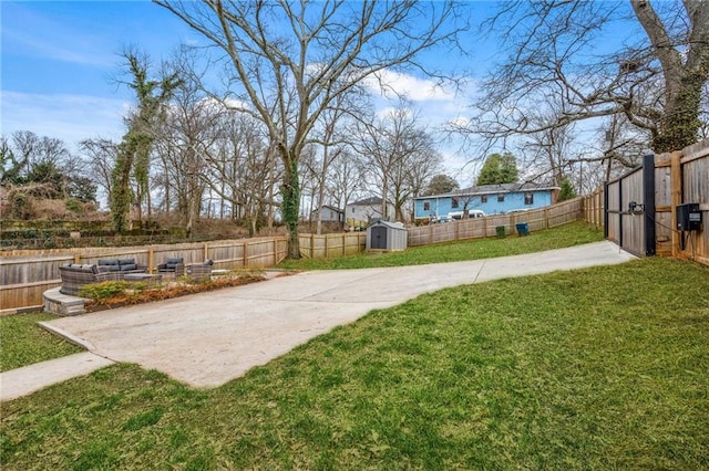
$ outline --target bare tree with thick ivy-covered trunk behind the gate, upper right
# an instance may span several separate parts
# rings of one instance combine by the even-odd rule
[[[636,33],[628,41],[640,41],[603,53],[602,38],[619,21]],[[480,115],[461,130],[504,140],[621,115],[650,133],[655,151],[698,138],[709,77],[709,2],[512,1],[489,25],[510,55],[482,85]],[[549,97],[561,104],[553,119],[530,119]]]

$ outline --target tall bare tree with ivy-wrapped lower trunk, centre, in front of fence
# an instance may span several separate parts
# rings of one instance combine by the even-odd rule
[[[299,258],[299,160],[323,109],[373,73],[415,64],[454,43],[450,1],[204,2],[154,0],[223,53],[229,95],[261,119],[281,159],[281,213],[289,257]]]

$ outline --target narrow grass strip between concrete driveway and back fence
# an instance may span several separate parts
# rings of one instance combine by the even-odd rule
[[[603,231],[594,229],[585,222],[573,222],[554,229],[534,231],[527,237],[508,236],[505,239],[473,239],[436,245],[412,247],[403,252],[358,253],[333,259],[285,260],[278,266],[294,270],[341,270],[422,265],[427,263],[518,255],[600,240],[603,240]]]

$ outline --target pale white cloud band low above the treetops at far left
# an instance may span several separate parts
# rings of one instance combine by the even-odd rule
[[[55,137],[68,145],[93,137],[120,139],[125,133],[123,116],[130,103],[86,95],[40,95],[3,91],[0,128],[9,136],[31,130]]]

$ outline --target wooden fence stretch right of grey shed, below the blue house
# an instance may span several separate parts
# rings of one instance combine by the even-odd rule
[[[575,198],[546,208],[512,214],[410,228],[409,247],[494,237],[497,234],[497,227],[504,227],[505,233],[510,234],[514,233],[516,224],[522,222],[527,223],[530,231],[555,228],[577,220],[582,216],[582,210],[583,199]]]

